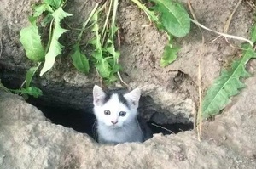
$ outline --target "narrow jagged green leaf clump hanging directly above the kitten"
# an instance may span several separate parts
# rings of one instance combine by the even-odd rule
[[[94,32],[94,37],[90,41],[90,44],[95,48],[92,56],[95,59],[96,70],[107,83],[115,82],[117,80],[115,74],[120,70],[120,65],[117,62],[120,54],[113,44],[114,34],[118,30],[115,25],[118,0],[113,0],[110,3],[111,5],[108,12],[110,13],[110,10],[113,10],[110,26],[108,29],[105,29],[105,26],[101,28],[99,18],[101,17],[102,19],[102,8],[96,10],[91,18],[91,21],[94,23],[91,30]],[[108,16],[106,20],[108,20]]]

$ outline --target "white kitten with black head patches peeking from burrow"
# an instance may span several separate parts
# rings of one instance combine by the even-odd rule
[[[97,140],[101,144],[143,142],[143,131],[137,121],[137,107],[141,91],[105,93],[93,87],[94,114],[97,120]]]

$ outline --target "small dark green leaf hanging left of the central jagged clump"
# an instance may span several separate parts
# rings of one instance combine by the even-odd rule
[[[89,73],[89,61],[84,54],[80,52],[79,44],[73,46],[74,53],[71,55],[73,59],[73,65],[81,72]]]

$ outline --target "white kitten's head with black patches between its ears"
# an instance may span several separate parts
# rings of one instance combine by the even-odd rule
[[[134,121],[141,91],[139,88],[130,93],[105,93],[101,87],[93,87],[94,113],[97,121],[108,127],[122,127]]]

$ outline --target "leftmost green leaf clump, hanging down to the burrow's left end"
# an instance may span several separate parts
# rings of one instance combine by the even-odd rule
[[[38,97],[42,95],[42,91],[37,87],[31,87],[32,77],[38,70],[39,65],[44,61],[44,67],[40,76],[43,76],[55,62],[55,57],[61,54],[63,47],[58,39],[67,30],[61,28],[61,20],[71,14],[63,11],[63,0],[44,0],[44,3],[33,7],[33,14],[29,17],[30,24],[26,28],[20,30],[20,42],[25,48],[26,56],[34,62],[38,62],[37,67],[32,67],[26,73],[26,87],[20,87],[18,90],[12,90],[15,93],[23,95],[32,95]],[[49,24],[49,42],[44,45],[38,29],[38,17],[45,14],[43,24]],[[44,48],[46,47],[46,48]],[[23,85],[22,85],[23,86]]]

